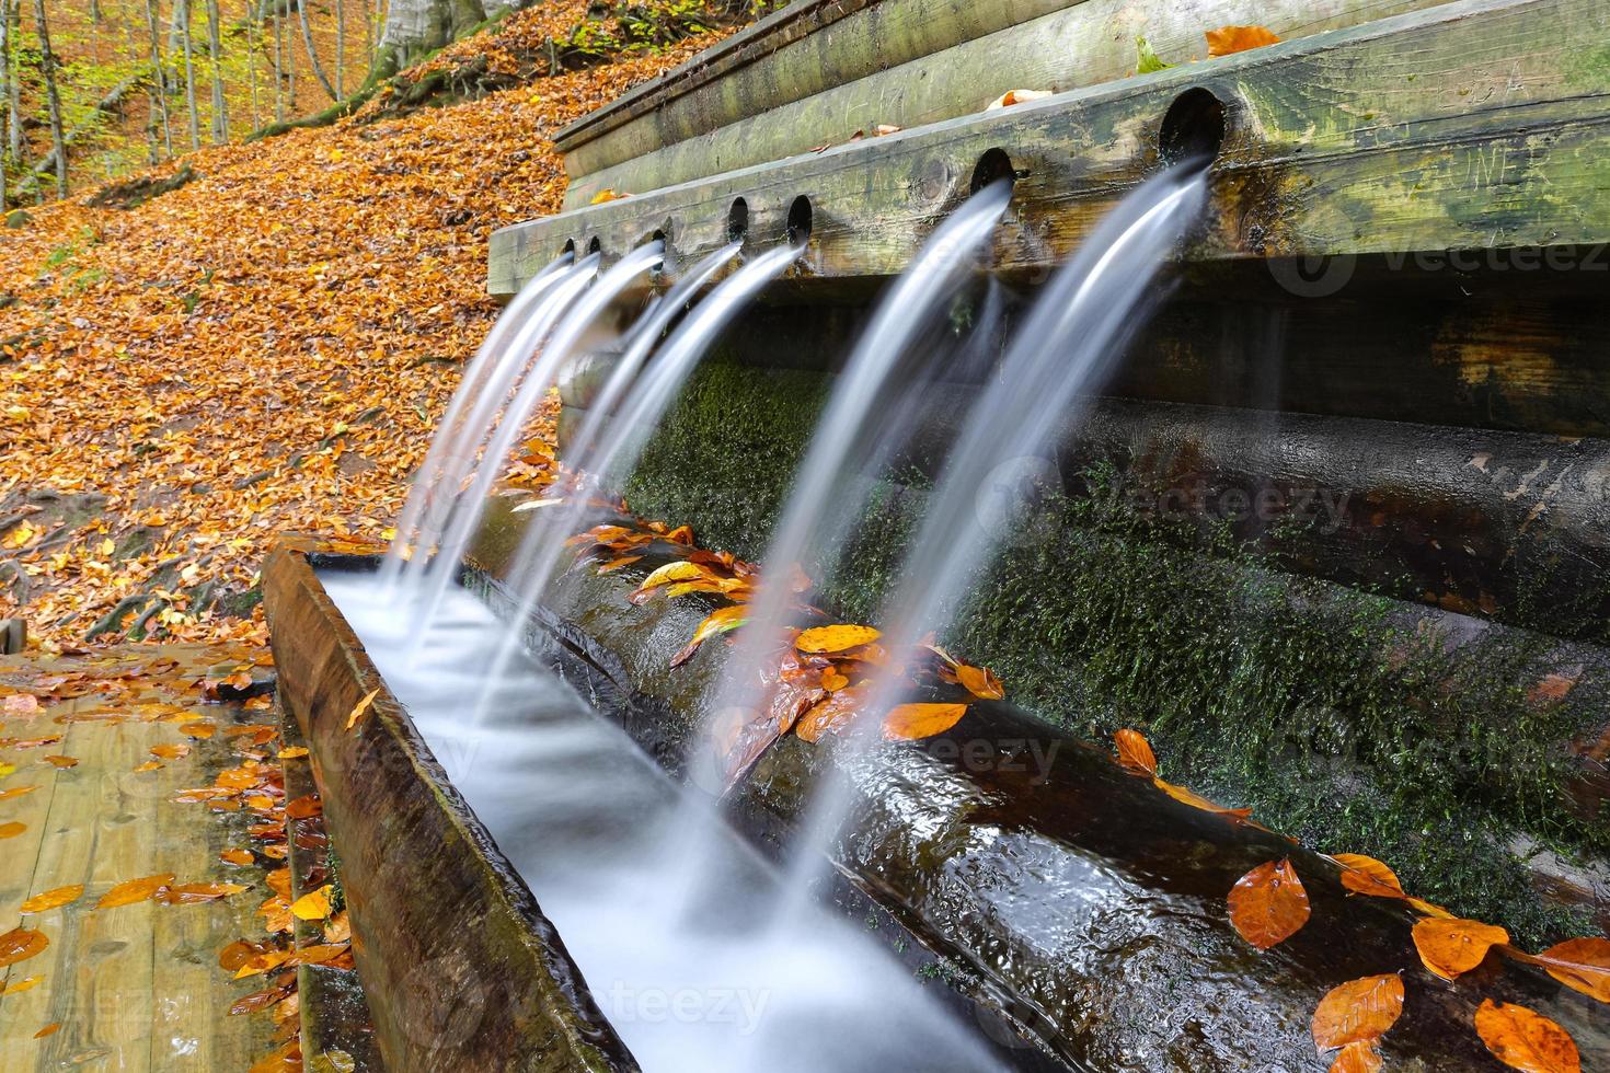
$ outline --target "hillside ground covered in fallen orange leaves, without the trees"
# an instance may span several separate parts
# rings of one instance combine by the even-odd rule
[[[13,214],[0,616],[47,650],[261,642],[277,532],[390,536],[497,312],[488,236],[559,208],[552,135],[718,39],[547,76],[530,58],[586,8],[515,14],[407,76],[464,69],[478,100],[401,109],[390,90],[330,127],[190,154],[153,177],[193,177],[132,209],[85,191]]]

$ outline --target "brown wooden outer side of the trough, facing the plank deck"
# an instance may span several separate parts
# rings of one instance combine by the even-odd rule
[[[536,899],[319,586],[264,563],[280,700],[312,750],[388,1070],[634,1071]],[[369,701],[348,730],[351,713]]]

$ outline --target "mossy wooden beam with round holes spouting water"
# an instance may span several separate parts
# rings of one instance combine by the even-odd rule
[[[502,228],[488,283],[510,293],[567,240],[613,257],[657,230],[675,278],[726,241],[734,198],[760,248],[799,196],[815,230],[794,282],[895,273],[992,148],[1021,175],[993,264],[1035,272],[1159,166],[1164,114],[1193,88],[1225,103],[1228,134],[1191,257],[1596,243],[1610,69],[1583,56],[1607,32],[1596,0],[1459,0]]]

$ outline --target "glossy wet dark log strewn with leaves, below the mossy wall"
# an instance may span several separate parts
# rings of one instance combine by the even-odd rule
[[[496,571],[510,534],[488,532],[478,561]],[[575,672],[602,676],[642,746],[679,771],[702,748],[723,666],[708,643],[671,669],[707,606],[626,600],[641,563],[572,571],[543,611]],[[496,582],[493,600],[506,598]],[[1496,1068],[1472,1017],[1484,997],[1521,1002],[1563,1025],[1584,1068],[1610,1060],[1605,1007],[1492,954],[1459,983],[1426,972],[1401,902],[1349,896],[1338,867],[1278,835],[1190,808],[1024,713],[974,703],[952,730],[852,756],[829,738],[787,737],[729,796],[739,825],[787,846],[813,787],[842,764],[848,822],[829,853],[964,972],[1008,996],[1024,1025],[1075,1068],[1325,1070],[1309,1018],[1348,980],[1397,972],[1402,1022],[1388,1063],[1426,1071]],[[1227,919],[1235,882],[1290,857],[1312,919],[1272,951]]]

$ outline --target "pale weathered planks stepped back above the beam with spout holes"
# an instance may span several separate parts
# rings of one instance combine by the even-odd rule
[[[1145,35],[1169,61],[1190,63],[1208,58],[1203,31],[1217,26],[1253,23],[1290,40],[1446,2],[1082,0],[985,34],[976,32],[984,27],[972,16],[980,5],[927,0],[926,6],[935,10],[910,11],[914,18],[879,26],[877,13],[892,6],[886,3],[836,24],[837,35],[824,32],[819,42],[813,37],[700,90],[720,101],[705,106],[704,122],[678,114],[678,105],[700,100],[700,93],[692,93],[652,117],[578,146],[565,158],[572,177],[565,208],[588,204],[604,188],[660,190],[782,159],[847,142],[857,130],[871,135],[879,124],[916,127],[980,113],[1013,88],[1067,92],[1124,79],[1135,74],[1137,35]],[[895,58],[906,51],[897,43],[895,55],[879,64],[886,42],[903,42],[906,35],[952,40],[939,51],[911,48],[916,58],[908,63]],[[802,84],[800,74],[826,71],[858,55],[866,63],[855,82],[824,82],[787,100],[765,92],[768,82]],[[650,122],[652,132],[646,130]],[[617,145],[638,130],[642,134],[630,145]]]

